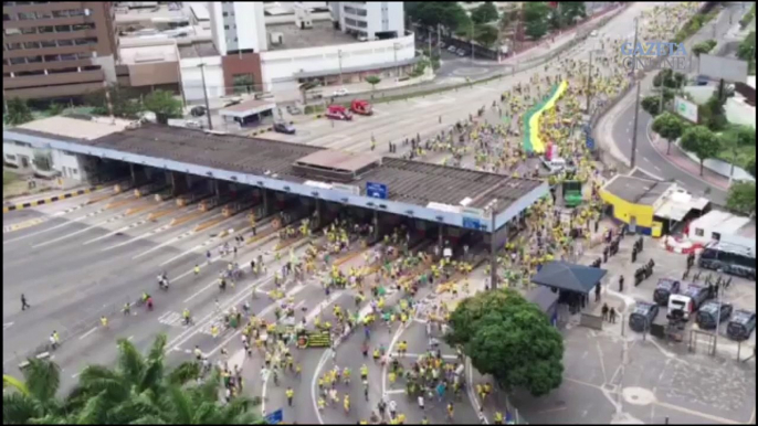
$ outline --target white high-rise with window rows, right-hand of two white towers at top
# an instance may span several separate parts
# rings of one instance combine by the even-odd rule
[[[402,1],[331,1],[329,8],[335,24],[361,40],[406,35]]]

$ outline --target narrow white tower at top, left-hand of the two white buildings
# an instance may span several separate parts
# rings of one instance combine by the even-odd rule
[[[222,56],[266,50],[262,1],[210,1],[208,9],[213,44]]]

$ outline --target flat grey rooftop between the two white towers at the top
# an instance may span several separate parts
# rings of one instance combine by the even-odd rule
[[[270,51],[358,43],[356,38],[335,30],[331,21],[313,21],[313,28],[307,30],[301,30],[293,23],[266,25],[266,33],[282,33],[283,38],[282,44],[269,43]]]

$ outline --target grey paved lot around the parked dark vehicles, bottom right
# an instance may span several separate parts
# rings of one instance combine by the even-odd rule
[[[716,353],[710,355],[710,340],[705,334],[692,334],[697,341],[691,349],[694,320],[687,322],[682,342],[631,331],[628,313],[634,306],[652,302],[657,280],[681,279],[686,267],[686,255],[667,252],[654,239],[645,239],[634,264],[631,251],[632,238],[627,237],[619,254],[601,266],[609,273],[600,301],[594,303],[590,294],[596,313],[608,303],[622,313],[620,318],[615,323],[604,322],[602,330],[579,327],[578,321],[569,323],[562,385],[543,398],[516,392],[513,403],[520,415],[530,423],[754,424],[756,370],[750,355],[755,332],[738,343],[726,336],[727,324],[722,323]],[[602,245],[588,248],[581,262],[589,264],[598,256],[602,257]],[[655,260],[653,275],[635,287],[634,270],[651,258]],[[697,270],[693,269],[691,278]],[[702,273],[698,284],[708,273]],[[625,276],[622,292],[620,275]],[[733,278],[723,302],[755,312],[755,286]],[[656,322],[665,323],[666,313],[661,307]]]

